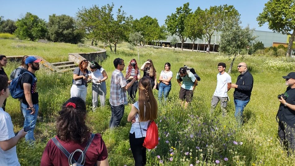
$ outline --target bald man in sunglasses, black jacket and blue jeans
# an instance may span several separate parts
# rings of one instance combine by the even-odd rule
[[[239,125],[243,125],[243,111],[246,105],[250,101],[250,96],[253,88],[253,76],[248,71],[247,64],[241,62],[238,64],[238,71],[241,73],[236,84],[231,84],[234,89],[234,105],[236,111],[234,116],[237,119]]]

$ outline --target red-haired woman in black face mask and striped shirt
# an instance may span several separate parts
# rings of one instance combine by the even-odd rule
[[[137,62],[135,59],[131,59],[128,67],[126,67],[126,74],[129,73],[130,76],[127,79],[127,84],[132,81],[134,76],[137,76],[137,79],[140,79],[140,70],[137,66]],[[138,81],[135,81],[132,86],[127,90],[129,96],[129,103],[134,103],[134,98],[138,88]]]

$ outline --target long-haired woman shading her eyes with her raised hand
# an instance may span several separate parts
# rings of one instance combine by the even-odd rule
[[[152,89],[156,89],[157,85],[157,75],[154,64],[151,59],[147,59],[147,62],[144,62],[140,67],[140,70],[143,71],[143,77],[148,78],[151,81]]]

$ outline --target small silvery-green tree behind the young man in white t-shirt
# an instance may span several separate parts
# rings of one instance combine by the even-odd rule
[[[250,29],[249,25],[242,28],[239,16],[232,17],[225,21],[220,35],[219,51],[228,56],[234,55],[230,64],[228,73],[231,72],[234,60],[237,54],[247,48],[255,40],[256,36],[253,35],[254,29]]]

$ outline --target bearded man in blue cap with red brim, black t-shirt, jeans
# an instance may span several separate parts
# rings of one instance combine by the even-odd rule
[[[39,111],[39,94],[37,90],[37,78],[35,72],[39,70],[39,62],[41,59],[37,59],[33,56],[26,58],[25,64],[28,66],[28,71],[21,75],[20,85],[24,89],[25,97],[21,101],[21,111],[24,115],[24,127],[31,127],[25,136],[26,141],[35,141],[34,129],[37,122],[37,116]]]

